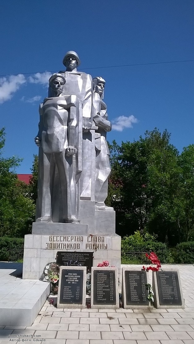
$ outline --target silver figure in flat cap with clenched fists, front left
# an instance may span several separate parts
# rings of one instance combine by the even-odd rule
[[[63,95],[61,74],[49,79],[49,97],[40,105],[39,180],[36,222],[79,223],[79,177],[82,152],[79,100]],[[78,166],[79,161],[79,166]]]

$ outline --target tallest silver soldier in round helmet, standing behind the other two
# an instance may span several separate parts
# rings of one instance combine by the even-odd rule
[[[92,197],[92,77],[84,72],[77,71],[81,61],[74,51],[68,51],[63,64],[66,71],[59,73],[65,78],[65,88],[62,95],[75,94],[80,102],[80,116],[82,117],[82,174],[80,179],[80,198],[89,200]],[[79,161],[78,161],[79,163]]]

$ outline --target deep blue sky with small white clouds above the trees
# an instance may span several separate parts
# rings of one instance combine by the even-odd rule
[[[30,173],[39,103],[47,96],[49,72],[64,70],[69,50],[78,53],[80,71],[106,80],[104,101],[114,123],[109,142],[138,140],[157,127],[171,133],[180,152],[193,143],[193,62],[157,64],[194,60],[193,0],[0,5],[0,127],[6,127],[4,157],[23,158],[17,173]],[[112,67],[121,65],[131,66]]]

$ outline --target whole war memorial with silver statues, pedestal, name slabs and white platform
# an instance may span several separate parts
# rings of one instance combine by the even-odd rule
[[[57,308],[81,309],[87,302],[104,312],[121,305],[152,308],[148,285],[156,308],[185,307],[180,274],[173,268],[151,273],[126,265],[121,281],[121,238],[115,234],[115,211],[105,204],[111,172],[105,80],[77,71],[80,63],[76,52],[65,54],[66,71],[50,77],[48,97],[39,107],[36,220],[24,239],[22,280],[9,283],[9,277],[5,284],[0,326],[32,325],[50,294],[43,270],[51,262],[60,266]]]

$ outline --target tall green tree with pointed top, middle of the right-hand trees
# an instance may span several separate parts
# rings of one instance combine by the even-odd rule
[[[170,134],[164,131],[162,144],[150,151],[147,165],[148,187],[152,196],[148,228],[161,241],[171,245],[179,241],[177,216],[181,213],[180,168],[178,151],[170,144]]]

